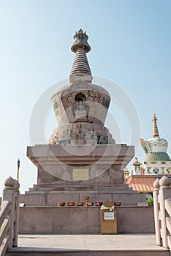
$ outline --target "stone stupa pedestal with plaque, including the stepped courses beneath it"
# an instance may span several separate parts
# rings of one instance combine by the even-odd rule
[[[58,202],[105,200],[123,206],[145,202],[145,195],[124,183],[123,168],[134,156],[125,144],[93,146],[28,146],[27,157],[37,166],[37,184],[20,203],[26,206],[57,206]]]

